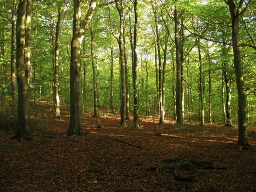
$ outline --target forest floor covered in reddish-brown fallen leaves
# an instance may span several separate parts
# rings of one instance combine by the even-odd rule
[[[51,106],[37,110],[35,141],[12,141],[14,130],[0,129],[0,191],[256,191],[255,126],[246,148],[236,144],[237,126],[159,127],[152,116],[134,130],[132,120],[118,128],[118,114],[84,114],[84,133],[66,136],[68,111],[54,120]]]

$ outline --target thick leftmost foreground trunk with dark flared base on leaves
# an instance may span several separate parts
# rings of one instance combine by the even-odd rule
[[[18,82],[18,128],[12,139],[20,141],[32,140],[33,136],[29,128],[28,120],[28,81],[25,75],[24,47],[25,30],[24,18],[26,13],[26,1],[20,0],[17,16],[17,41],[16,41],[16,71]]]

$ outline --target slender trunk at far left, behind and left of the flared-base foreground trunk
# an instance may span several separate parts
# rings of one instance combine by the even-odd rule
[[[12,56],[11,56],[11,86],[12,86],[12,100],[15,100],[16,96],[16,76],[15,76],[15,64],[16,64],[16,52],[15,52],[15,40],[16,40],[16,16],[17,5],[16,1],[13,1],[12,7]]]

